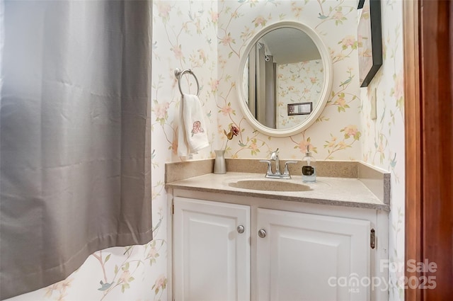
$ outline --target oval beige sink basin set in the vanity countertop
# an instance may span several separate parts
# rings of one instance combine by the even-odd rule
[[[228,183],[228,186],[254,191],[311,191],[311,188],[304,184],[278,180],[238,180]]]

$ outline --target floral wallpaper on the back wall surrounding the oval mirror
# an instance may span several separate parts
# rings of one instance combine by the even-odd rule
[[[357,1],[219,1],[217,119],[234,124],[239,139],[227,156],[267,158],[280,149],[283,159],[302,159],[309,144],[317,159],[360,160],[360,89],[357,74]],[[333,60],[333,89],[321,116],[292,137],[268,137],[241,114],[236,74],[244,50],[260,29],[278,21],[299,21],[319,33]]]

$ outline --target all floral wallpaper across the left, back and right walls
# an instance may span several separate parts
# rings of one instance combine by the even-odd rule
[[[152,52],[152,202],[155,238],[144,246],[110,248],[91,255],[66,280],[11,300],[166,300],[167,193],[165,162],[214,157],[224,147],[224,129],[233,124],[239,137],[226,157],[266,158],[280,148],[282,159],[302,159],[309,144],[317,159],[362,160],[391,171],[391,261],[403,261],[404,152],[402,4],[382,3],[384,65],[368,88],[360,89],[357,59],[357,0],[154,0]],[[316,123],[291,137],[268,137],[253,130],[239,109],[236,84],[239,59],[253,35],[280,20],[306,23],[329,49],[333,86]],[[193,157],[178,157],[180,91],[174,69],[193,70],[210,147]],[[181,89],[197,93],[193,76]],[[375,92],[374,92],[375,91]],[[377,96],[377,119],[370,110]],[[403,272],[402,272],[403,273]],[[391,300],[403,300],[391,273]]]

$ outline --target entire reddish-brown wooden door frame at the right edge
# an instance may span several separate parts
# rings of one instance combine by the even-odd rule
[[[453,291],[453,4],[403,1],[406,212],[405,271],[435,289],[405,290],[405,300],[447,300]],[[408,260],[437,271],[408,271]]]

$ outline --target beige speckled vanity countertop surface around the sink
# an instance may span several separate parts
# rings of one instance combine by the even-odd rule
[[[229,183],[248,179],[299,183],[309,186],[311,190],[258,191],[229,186]],[[204,174],[202,176],[185,178],[180,181],[173,181],[166,183],[166,188],[389,211],[389,204],[379,200],[357,178],[317,177],[316,183],[303,183],[302,176],[292,176],[290,180],[282,180],[264,178],[262,174],[227,172],[226,174]]]

